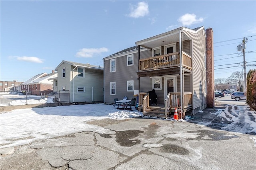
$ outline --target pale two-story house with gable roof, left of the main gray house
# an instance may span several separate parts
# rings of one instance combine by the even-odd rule
[[[70,102],[103,102],[102,67],[62,61],[55,70],[58,72],[57,89],[69,90]]]

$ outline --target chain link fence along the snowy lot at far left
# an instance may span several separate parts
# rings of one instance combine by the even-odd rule
[[[52,90],[24,90],[21,92],[0,92],[0,106],[70,102],[70,92]]]

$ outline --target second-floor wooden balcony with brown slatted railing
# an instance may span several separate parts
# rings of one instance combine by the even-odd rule
[[[185,52],[182,53],[183,69],[192,72],[192,57]],[[140,59],[138,76],[167,75],[170,72],[177,74],[180,71],[180,52],[169,53],[156,57]]]

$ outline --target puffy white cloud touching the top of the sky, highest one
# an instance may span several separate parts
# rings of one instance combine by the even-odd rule
[[[149,14],[148,3],[138,2],[138,5],[130,5],[130,14],[128,17],[139,18],[144,17]]]

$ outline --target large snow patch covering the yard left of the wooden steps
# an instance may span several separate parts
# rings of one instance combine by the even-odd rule
[[[82,131],[113,133],[86,122],[97,119],[141,117],[138,111],[119,110],[112,105],[86,104],[16,109],[0,114],[0,148],[24,145],[38,139]]]

